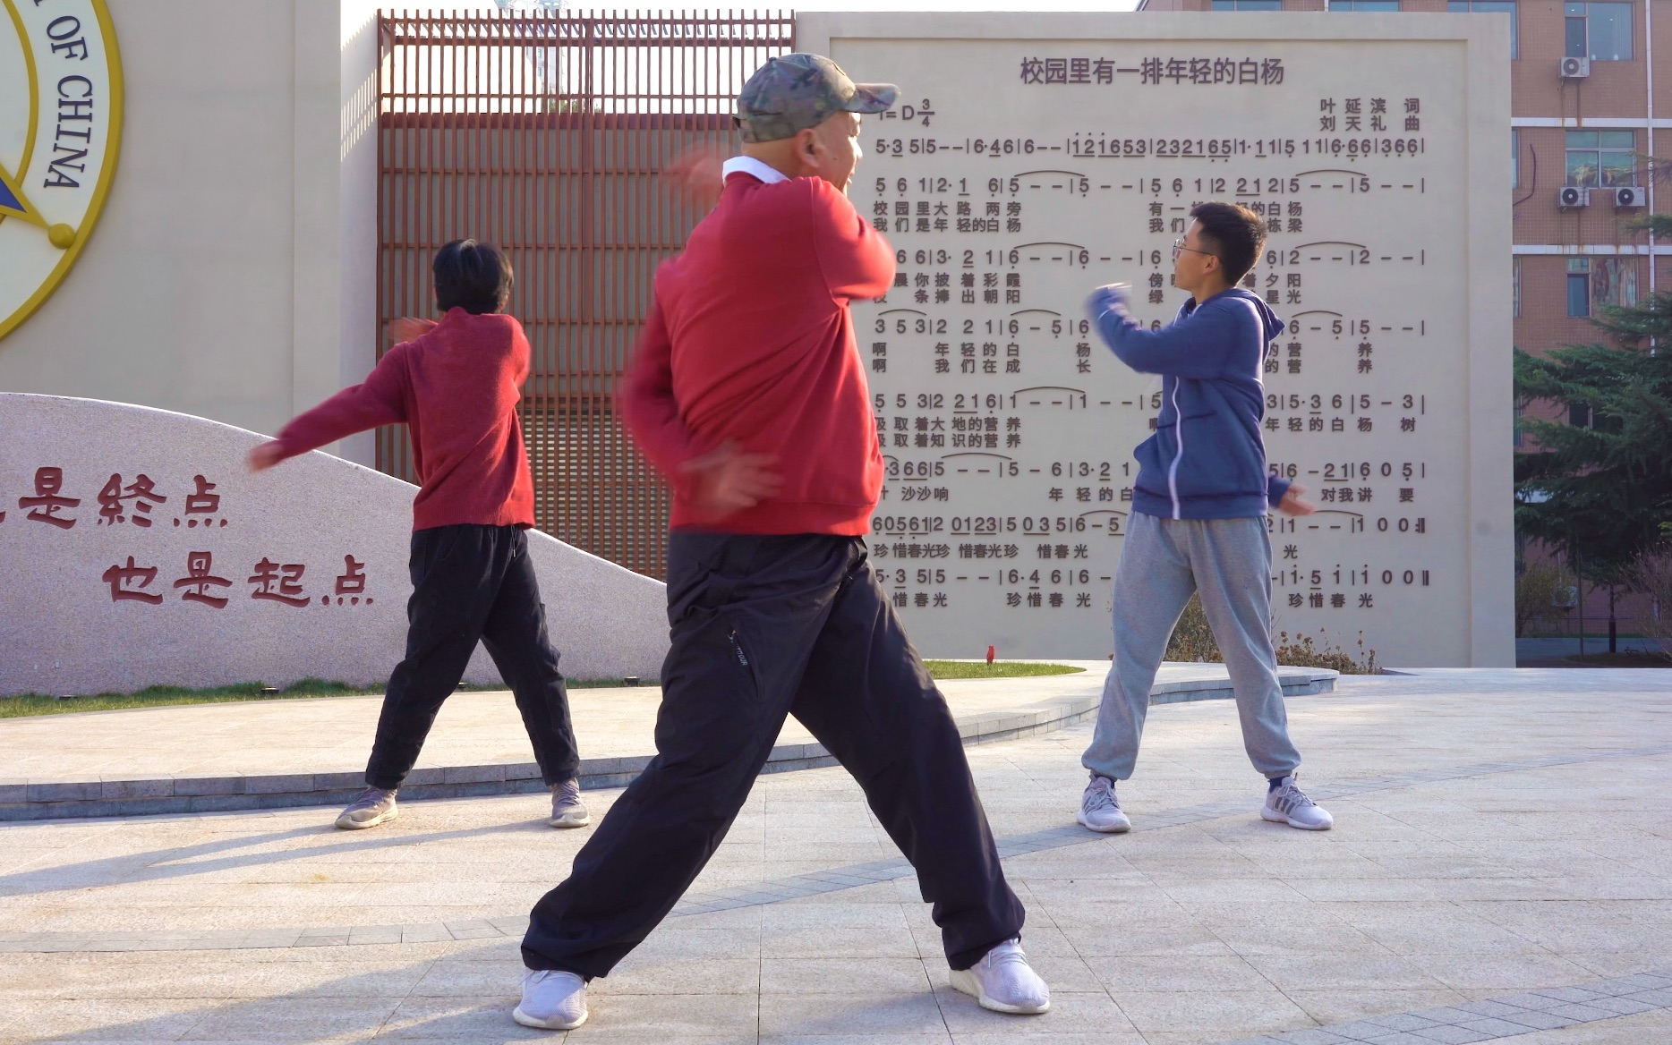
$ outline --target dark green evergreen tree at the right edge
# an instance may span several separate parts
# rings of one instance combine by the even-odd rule
[[[1672,214],[1634,222],[1672,237]],[[1515,353],[1517,401],[1552,401],[1588,425],[1527,420],[1517,455],[1517,530],[1560,550],[1595,584],[1629,584],[1672,520],[1672,291],[1592,319],[1610,343],[1540,359]]]

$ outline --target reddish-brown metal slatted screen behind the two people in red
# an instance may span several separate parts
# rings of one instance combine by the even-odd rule
[[[614,406],[655,264],[702,216],[660,172],[734,147],[732,99],[794,50],[794,17],[385,13],[380,40],[380,329],[433,316],[441,244],[498,244],[533,346],[538,527],[662,577],[669,495]],[[378,468],[415,478],[405,426],[378,433]]]

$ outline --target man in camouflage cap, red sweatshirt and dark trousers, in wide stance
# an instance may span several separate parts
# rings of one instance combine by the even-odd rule
[[[567,1030],[702,871],[793,714],[853,772],[916,868],[951,983],[1045,1012],[958,727],[871,575],[883,480],[853,299],[895,252],[848,202],[859,114],[896,89],[819,55],[769,60],[737,99],[744,155],[655,278],[620,390],[674,487],[657,756],[533,908],[513,1017]]]

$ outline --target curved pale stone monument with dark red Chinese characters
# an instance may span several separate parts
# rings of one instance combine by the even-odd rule
[[[386,681],[416,487],[318,451],[256,475],[264,438],[0,393],[0,696]],[[664,585],[538,532],[528,547],[563,672],[655,677]],[[465,677],[498,672],[478,647]]]

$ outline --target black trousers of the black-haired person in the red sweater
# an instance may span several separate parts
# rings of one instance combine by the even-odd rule
[[[547,784],[573,777],[580,754],[568,722],[568,691],[545,634],[528,535],[520,527],[418,530],[411,575],[406,659],[390,675],[366,782],[390,789],[406,779],[478,640],[517,696],[540,776]]]

